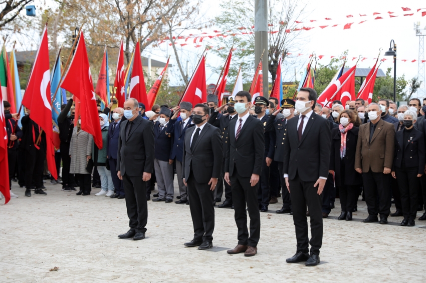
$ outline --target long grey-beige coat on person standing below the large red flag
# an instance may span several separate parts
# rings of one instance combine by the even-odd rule
[[[77,133],[77,127],[74,127],[70,143],[71,166],[70,173],[90,174],[86,170],[87,155],[92,155],[93,136],[80,130]]]

